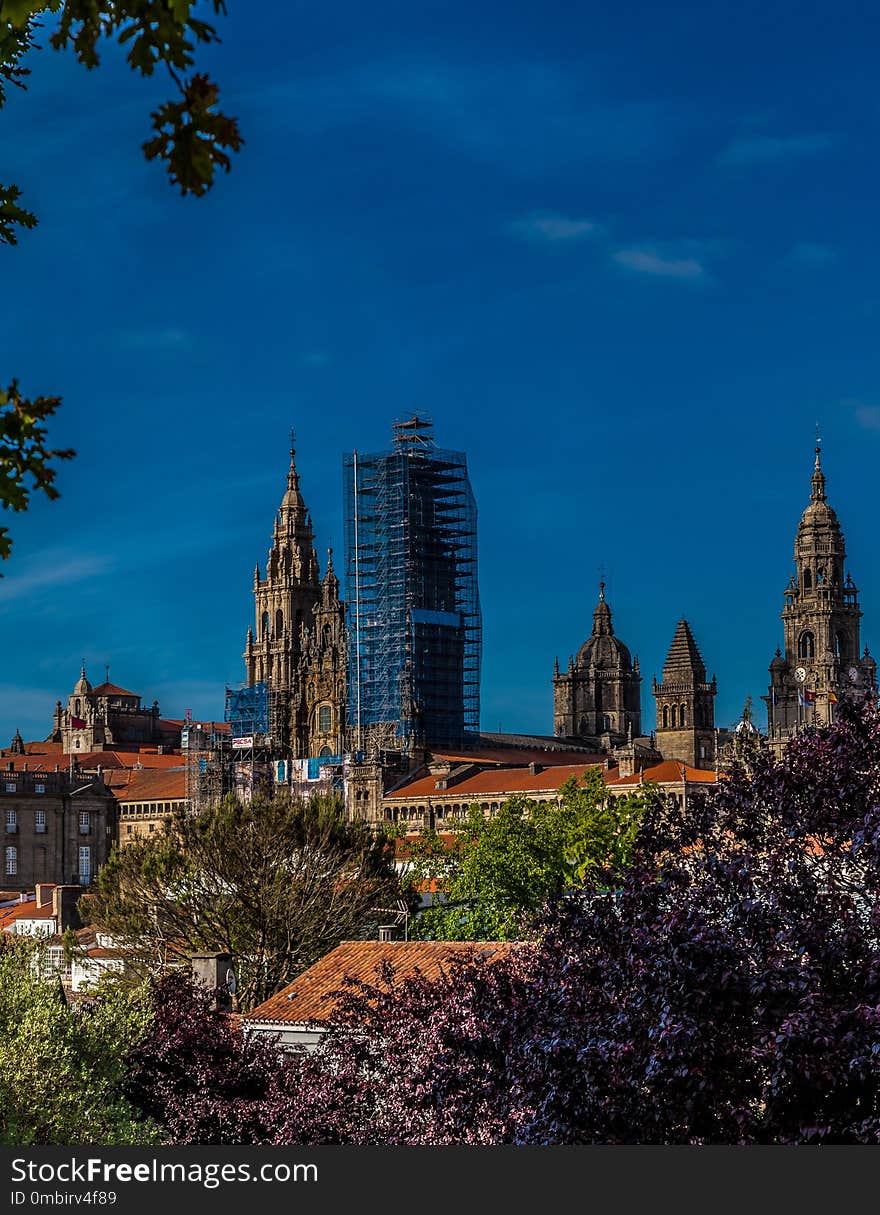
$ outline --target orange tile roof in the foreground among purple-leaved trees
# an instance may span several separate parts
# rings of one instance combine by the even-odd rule
[[[434,982],[453,957],[472,953],[503,956],[515,948],[512,940],[344,940],[243,1019],[290,1024],[327,1019],[333,993],[340,990],[346,974],[373,983],[382,965],[390,962],[399,978],[421,973]]]

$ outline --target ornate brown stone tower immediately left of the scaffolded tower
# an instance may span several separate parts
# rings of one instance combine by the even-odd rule
[[[254,570],[255,623],[244,648],[246,682],[269,689],[270,733],[292,758],[345,750],[345,604],[332,550],[323,578],[290,445],[287,488],[275,516],[266,575]]]

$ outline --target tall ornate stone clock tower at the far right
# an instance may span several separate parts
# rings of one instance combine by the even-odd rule
[[[825,497],[822,451],[810,504],[795,537],[795,572],[785,588],[785,651],[769,665],[768,738],[780,748],[805,725],[834,720],[844,699],[876,700],[876,663],[861,650],[858,587],[845,569],[846,544],[840,521]]]

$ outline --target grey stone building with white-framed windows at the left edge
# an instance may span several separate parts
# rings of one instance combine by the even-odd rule
[[[101,774],[0,772],[4,889],[89,886],[118,838],[115,798]]]

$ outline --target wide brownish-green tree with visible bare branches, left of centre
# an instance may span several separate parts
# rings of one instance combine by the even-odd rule
[[[115,850],[80,911],[129,951],[135,974],[232,954],[249,1008],[361,936],[397,889],[393,848],[349,823],[338,798],[227,798]]]

